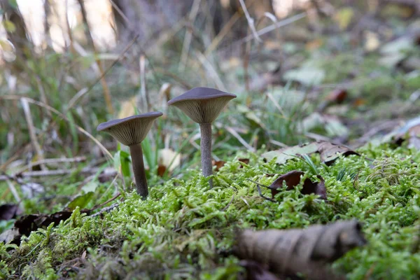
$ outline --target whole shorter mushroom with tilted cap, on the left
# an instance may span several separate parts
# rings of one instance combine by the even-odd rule
[[[162,112],[144,113],[118,120],[109,120],[106,123],[101,123],[97,127],[97,131],[108,132],[117,141],[130,147],[137,193],[143,198],[147,197],[148,188],[146,173],[144,172],[141,141],[146,138],[147,133],[151,130],[153,120],[160,116],[162,116]]]

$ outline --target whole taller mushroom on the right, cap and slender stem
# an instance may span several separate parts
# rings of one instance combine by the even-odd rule
[[[201,160],[204,177],[213,174],[211,165],[211,123],[218,117],[230,99],[234,98],[236,98],[235,94],[222,92],[214,88],[195,87],[168,102],[168,105],[178,107],[200,125]],[[213,188],[211,179],[209,184]]]

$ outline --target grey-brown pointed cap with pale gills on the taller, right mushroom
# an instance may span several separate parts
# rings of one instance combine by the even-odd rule
[[[195,87],[179,97],[169,100],[168,105],[181,109],[195,123],[213,123],[235,94],[210,87]]]

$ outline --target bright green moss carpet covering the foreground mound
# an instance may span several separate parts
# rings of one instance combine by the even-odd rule
[[[359,152],[361,157],[339,158],[330,167],[311,157],[325,179],[326,202],[301,195],[299,188],[276,195],[279,203],[264,200],[248,179],[267,186],[276,179],[268,173],[301,169],[311,177],[313,171],[303,160],[279,166],[248,155],[251,162],[243,168],[236,159],[227,162],[211,190],[199,170],[190,170],[182,179],[151,188],[146,201],[123,193],[109,214],[92,218],[76,209],[69,220],[32,232],[17,248],[0,245],[1,276],[235,279],[241,267],[229,251],[237,228],[294,228],[357,218],[369,243],[337,260],[335,269],[349,279],[416,279],[420,155],[388,146]],[[84,252],[87,260],[76,261]]]

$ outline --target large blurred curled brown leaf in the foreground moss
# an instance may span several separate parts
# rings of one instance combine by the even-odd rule
[[[327,264],[364,244],[360,223],[339,221],[306,229],[243,230],[237,235],[234,253],[279,275],[300,273],[305,279],[339,279],[328,271]]]

